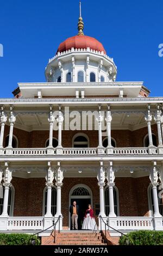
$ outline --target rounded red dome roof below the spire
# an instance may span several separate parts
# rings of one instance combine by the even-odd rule
[[[74,49],[86,49],[87,47],[90,47],[92,50],[100,52],[103,51],[106,54],[101,42],[87,35],[76,35],[72,36],[71,38],[67,38],[64,42],[61,42],[57,52],[68,51],[71,50],[72,47]]]

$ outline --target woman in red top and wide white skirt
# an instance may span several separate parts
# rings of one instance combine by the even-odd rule
[[[95,217],[93,215],[93,209],[91,208],[91,204],[88,205],[88,209],[85,212],[82,229],[97,230],[97,225]]]

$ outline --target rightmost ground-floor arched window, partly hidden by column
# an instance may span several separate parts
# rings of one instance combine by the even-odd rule
[[[159,212],[163,216],[163,200],[159,197],[159,193],[161,190],[159,190],[159,186],[157,186],[157,192],[158,192],[158,203],[159,203]],[[148,202],[149,202],[149,210],[151,211],[151,216],[154,214],[154,200],[153,200],[153,190],[152,190],[152,184],[148,186]]]

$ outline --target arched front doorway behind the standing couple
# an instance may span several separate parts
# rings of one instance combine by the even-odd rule
[[[82,229],[82,223],[85,215],[85,211],[89,204],[92,205],[92,191],[90,187],[84,184],[77,184],[73,186],[69,193],[69,205],[76,201],[79,205],[78,216],[78,229]],[[69,212],[69,229],[71,229],[71,216]]]

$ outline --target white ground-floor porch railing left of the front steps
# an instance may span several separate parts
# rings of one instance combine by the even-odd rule
[[[43,217],[9,217],[7,227],[8,230],[42,230]]]

